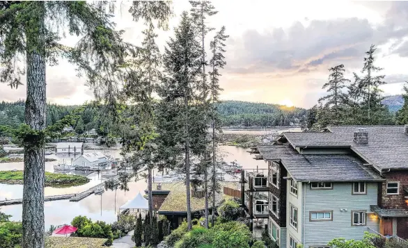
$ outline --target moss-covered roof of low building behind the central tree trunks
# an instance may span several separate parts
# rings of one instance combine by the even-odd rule
[[[186,186],[184,181],[177,181],[173,183],[161,183],[162,190],[170,190],[170,193],[167,195],[162,206],[159,208],[160,212],[187,212],[187,195],[186,195]],[[221,182],[221,192],[217,193],[216,205],[219,204],[223,199],[230,199],[232,197],[228,195],[223,195],[222,187],[237,188],[237,183],[235,182]],[[156,188],[156,183],[153,183],[153,187]],[[192,187],[191,187],[192,188]],[[208,205],[212,205],[212,197],[208,199]],[[191,211],[203,210],[205,206],[205,198],[191,197]]]

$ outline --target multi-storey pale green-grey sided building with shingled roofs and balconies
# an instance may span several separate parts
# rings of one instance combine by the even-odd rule
[[[407,239],[407,147],[408,126],[283,133],[258,146],[269,168],[266,181],[265,173],[250,172],[245,184],[258,179],[253,188],[262,194],[268,185],[267,228],[279,247],[326,248],[334,238],[360,240],[365,231]],[[259,204],[265,201],[252,198],[245,206]],[[251,209],[251,220],[265,216],[265,208],[262,215]]]

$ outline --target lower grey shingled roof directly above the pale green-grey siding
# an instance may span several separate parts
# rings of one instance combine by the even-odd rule
[[[295,181],[384,181],[349,154],[301,155],[289,144],[260,145],[258,151],[265,160],[280,160]]]

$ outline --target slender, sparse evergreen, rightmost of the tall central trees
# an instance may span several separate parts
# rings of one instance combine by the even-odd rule
[[[212,70],[210,71],[210,97],[211,97],[211,108],[210,108],[210,117],[212,120],[212,218],[211,224],[214,226],[214,219],[215,219],[215,193],[217,190],[217,145],[219,139],[217,138],[216,129],[221,127],[219,122],[219,113],[217,111],[217,102],[219,101],[219,92],[221,88],[219,87],[219,77],[221,76],[219,70],[223,69],[226,65],[225,57],[223,53],[225,53],[224,47],[226,38],[228,35],[225,34],[225,26],[221,27],[221,30],[216,33],[214,36],[214,40],[210,42],[210,49],[212,51],[212,58],[210,59],[210,67]],[[207,195],[206,195],[207,197]],[[206,219],[208,217],[206,216]],[[208,220],[206,220],[208,222]],[[207,225],[208,223],[206,223]]]

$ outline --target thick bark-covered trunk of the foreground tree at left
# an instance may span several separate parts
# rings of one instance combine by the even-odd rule
[[[41,3],[40,3],[41,4]],[[44,17],[38,15],[36,31],[27,33],[36,35],[27,39],[27,93],[26,93],[26,124],[34,130],[45,129],[45,56],[41,52],[45,46]],[[45,149],[44,147],[24,147],[24,188],[22,204],[22,248],[44,247],[44,180],[45,180]]]

